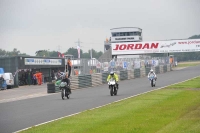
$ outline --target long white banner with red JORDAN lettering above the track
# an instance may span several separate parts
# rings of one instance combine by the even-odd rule
[[[198,51],[200,51],[200,39],[112,43],[112,55]]]

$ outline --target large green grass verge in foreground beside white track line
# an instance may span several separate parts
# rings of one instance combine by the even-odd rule
[[[200,77],[23,133],[199,133]]]

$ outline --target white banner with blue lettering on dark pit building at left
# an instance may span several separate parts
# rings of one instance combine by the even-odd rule
[[[25,65],[62,65],[62,59],[24,58]]]

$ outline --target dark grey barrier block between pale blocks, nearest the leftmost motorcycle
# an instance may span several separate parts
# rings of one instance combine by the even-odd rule
[[[78,76],[79,88],[86,88],[92,86],[91,75]]]

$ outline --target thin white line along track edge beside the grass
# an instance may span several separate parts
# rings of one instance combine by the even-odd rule
[[[197,78],[197,77],[199,77],[199,76],[196,76],[196,77],[193,77],[193,78],[190,78],[190,79],[181,81],[181,82],[177,82],[177,83],[174,83],[174,84],[170,84],[170,85],[167,85],[167,86],[164,86],[164,87],[160,87],[160,88],[157,88],[157,89],[154,89],[154,90],[151,90],[151,91],[147,91],[147,92],[143,92],[143,93],[140,93],[140,94],[137,94],[137,95],[133,95],[133,96],[130,96],[130,97],[127,97],[127,98],[123,98],[123,99],[120,99],[120,100],[117,100],[117,101],[114,101],[114,102],[111,102],[111,103],[108,103],[108,104],[105,104],[105,105],[102,105],[102,106],[98,106],[98,107],[95,107],[95,108],[92,108],[92,109],[89,109],[89,110],[98,109],[98,108],[101,108],[101,107],[110,105],[110,104],[112,104],[112,103],[120,102],[120,101],[123,101],[123,100],[126,100],[126,99],[130,99],[130,98],[132,98],[132,97],[136,97],[136,96],[139,96],[139,95],[142,95],[142,94],[146,94],[146,93],[149,93],[149,92],[152,92],[152,91],[160,90],[160,89],[166,88],[166,87],[171,86],[171,85],[183,83],[183,82],[189,81],[189,80],[194,79],[194,78]],[[84,111],[82,111],[82,112],[84,112]],[[70,116],[74,116],[74,115],[80,114],[80,113],[82,113],[82,112],[78,112],[78,113],[74,113],[74,114],[67,115],[67,116],[64,116],[64,117],[60,117],[60,118],[57,118],[57,119],[54,119],[54,120],[50,120],[50,121],[47,121],[47,122],[44,122],[44,123],[40,123],[40,124],[35,125],[35,126],[32,126],[32,127],[37,127],[37,126],[40,126],[40,125],[44,125],[44,124],[47,124],[47,123],[50,123],[50,122],[54,122],[54,121],[57,121],[57,120],[60,120],[60,119],[63,119],[63,118],[67,118],[67,117],[70,117]],[[18,131],[16,131],[16,132],[14,132],[14,133],[19,133],[19,132],[21,132],[21,131],[28,130],[28,129],[32,128],[32,127],[24,128],[24,129],[22,129],[22,130],[18,130]]]

